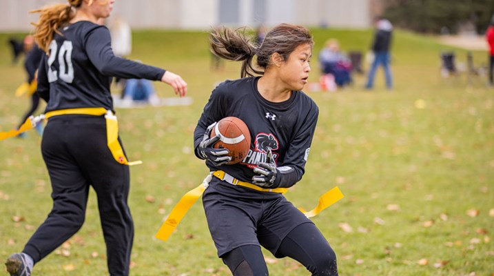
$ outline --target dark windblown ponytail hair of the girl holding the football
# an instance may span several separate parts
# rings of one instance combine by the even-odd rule
[[[209,44],[214,55],[231,61],[243,61],[240,77],[263,75],[275,52],[286,61],[300,44],[309,43],[313,46],[311,32],[303,26],[282,23],[272,28],[258,47],[251,42],[246,30],[246,27],[217,27],[209,34]],[[257,66],[260,69],[252,64],[254,56],[257,56]]]

